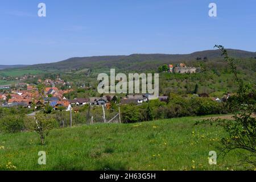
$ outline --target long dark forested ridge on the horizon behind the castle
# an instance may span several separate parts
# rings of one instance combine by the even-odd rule
[[[229,55],[236,58],[251,58],[256,60],[256,52],[228,49]],[[92,56],[73,57],[64,61],[48,64],[31,65],[36,69],[100,69],[119,68],[134,71],[154,70],[162,64],[175,64],[180,62],[193,62],[199,60],[217,61],[221,58],[219,50],[193,52],[189,54],[133,54],[129,56]]]

